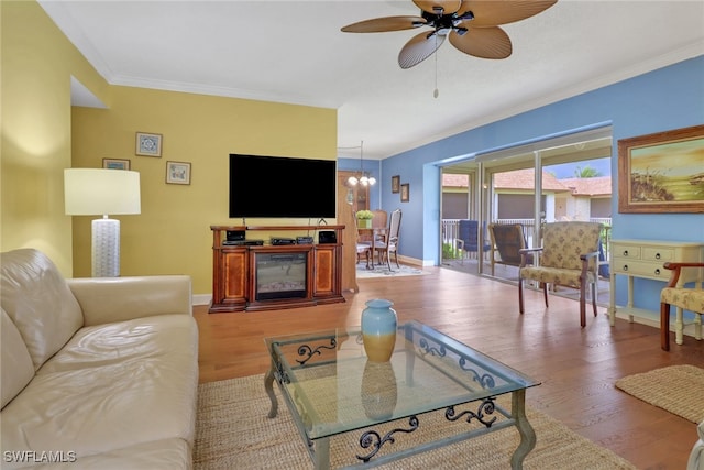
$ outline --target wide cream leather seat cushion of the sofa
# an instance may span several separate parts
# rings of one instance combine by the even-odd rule
[[[2,411],[2,447],[73,450],[80,462],[144,442],[191,446],[197,383],[191,316],[81,328]]]

